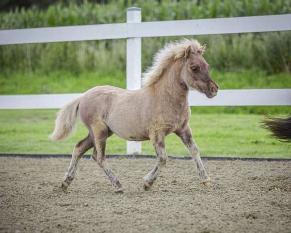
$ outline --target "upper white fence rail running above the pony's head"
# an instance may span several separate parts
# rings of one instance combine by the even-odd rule
[[[130,11],[128,11],[130,12]],[[132,11],[135,15],[138,10]],[[291,30],[291,14],[0,30],[0,45]]]

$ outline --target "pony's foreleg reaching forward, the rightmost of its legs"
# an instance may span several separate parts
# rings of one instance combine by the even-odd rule
[[[191,153],[194,164],[197,168],[198,174],[202,179],[202,183],[204,183],[205,186],[210,187],[210,178],[206,173],[206,170],[202,164],[199,150],[193,140],[192,132],[189,124],[187,124],[183,129],[181,129],[178,132],[175,132],[182,140],[182,142],[185,144],[189,152]]]

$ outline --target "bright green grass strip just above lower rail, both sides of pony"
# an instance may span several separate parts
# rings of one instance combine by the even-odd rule
[[[212,79],[220,89],[291,88],[291,73],[268,75],[264,71],[219,71],[210,68]],[[0,95],[79,93],[91,87],[113,85],[126,87],[122,71],[78,73],[69,70],[41,72],[0,72]]]

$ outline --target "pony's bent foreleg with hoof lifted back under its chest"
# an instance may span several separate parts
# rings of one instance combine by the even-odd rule
[[[154,137],[154,139],[152,139],[151,141],[157,153],[157,163],[156,166],[151,170],[151,172],[143,177],[144,182],[142,183],[142,187],[145,190],[148,190],[153,185],[158,177],[159,171],[167,162],[164,136]]]

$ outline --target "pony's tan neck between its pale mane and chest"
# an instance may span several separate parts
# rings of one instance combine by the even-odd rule
[[[185,105],[188,103],[189,88],[181,78],[182,59],[178,59],[169,64],[161,74],[154,89],[161,98],[167,98],[175,104]]]

